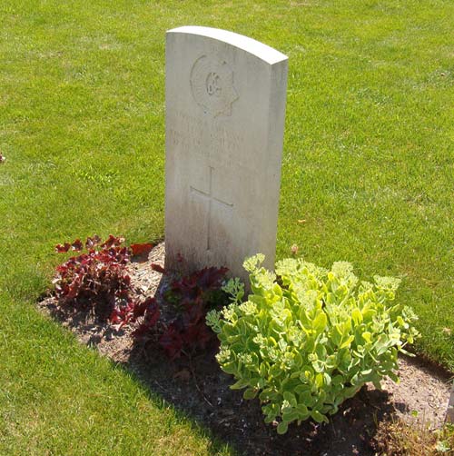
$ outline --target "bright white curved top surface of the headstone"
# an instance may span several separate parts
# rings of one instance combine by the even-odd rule
[[[234,32],[229,32],[228,30],[222,30],[221,28],[185,25],[183,27],[173,28],[167,33],[200,35],[207,38],[212,38],[214,40],[222,41],[223,43],[238,47],[243,51],[255,55],[268,64],[277,64],[282,60],[288,59],[287,55],[283,55],[269,45],[263,45],[263,43],[260,43],[259,41],[256,41],[252,38],[235,34]]]

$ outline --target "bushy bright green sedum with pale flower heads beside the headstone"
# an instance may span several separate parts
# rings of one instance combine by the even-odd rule
[[[243,264],[247,301],[242,283],[231,280],[224,291],[232,303],[209,312],[207,324],[221,341],[217,361],[237,381],[231,388],[258,396],[266,422],[279,421],[285,433],[292,421],[328,421],[366,382],[399,381],[398,352],[418,332],[416,315],[394,302],[398,279],[359,282],[350,263],[327,271],[301,259],[282,260],[270,273],[263,259]]]

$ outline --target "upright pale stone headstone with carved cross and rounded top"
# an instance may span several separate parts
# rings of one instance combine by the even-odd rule
[[[167,32],[165,249],[188,269],[246,256],[274,264],[287,88],[285,55],[242,35]]]

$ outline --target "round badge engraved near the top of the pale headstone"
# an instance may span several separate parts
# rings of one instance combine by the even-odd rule
[[[191,90],[195,102],[213,117],[231,115],[232,104],[238,99],[232,69],[213,55],[202,55],[192,65]]]

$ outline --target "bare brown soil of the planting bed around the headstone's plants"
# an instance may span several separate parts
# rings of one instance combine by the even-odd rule
[[[152,270],[163,265],[164,245],[156,246],[148,259],[130,265],[133,298],[159,296],[168,281]],[[232,376],[223,373],[210,352],[169,362],[156,347],[134,344],[130,327],[115,331],[90,315],[70,315],[54,297],[39,302],[44,312],[69,327],[84,344],[95,346],[114,362],[133,371],[142,382],[176,409],[192,416],[213,435],[248,455],[372,455],[373,436],[380,421],[399,416],[405,421],[424,421],[439,427],[449,401],[449,374],[418,358],[400,358],[400,384],[382,382],[383,391],[366,385],[345,401],[329,424],[311,421],[291,425],[278,435],[263,422],[258,400],[244,401],[232,391]]]

